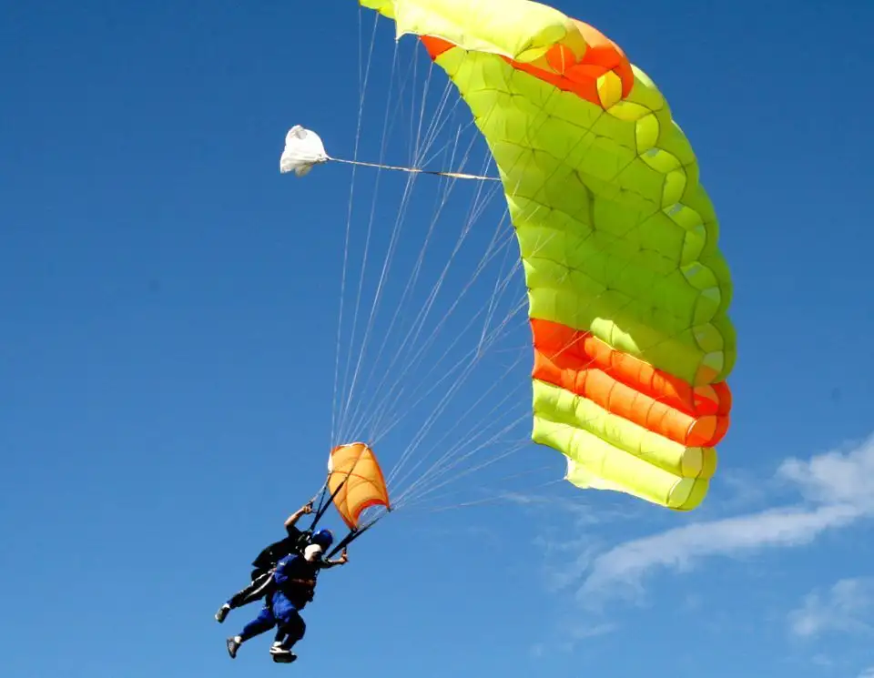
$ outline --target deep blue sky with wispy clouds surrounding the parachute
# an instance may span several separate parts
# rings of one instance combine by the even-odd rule
[[[422,225],[446,197],[440,180],[416,180],[364,341],[407,179],[358,170],[351,200],[348,167],[298,179],[278,165],[294,124],[352,156],[371,15],[352,2],[4,3],[0,673],[874,675],[874,8],[557,6],[655,79],[721,221],[739,359],[733,428],[701,510],[575,491],[555,482],[557,455],[513,445],[526,435],[530,364],[524,319],[508,311],[523,288],[504,257],[512,242],[490,248],[500,201],[484,203],[471,182],[453,188],[420,284],[404,296]],[[412,40],[400,49],[398,73],[409,73]],[[393,54],[381,24],[359,153],[379,157],[389,102],[406,122],[385,157],[404,163],[417,120],[407,104],[425,73],[399,94]],[[434,139],[463,126],[462,114]],[[457,167],[453,148],[435,143],[429,166]],[[482,169],[477,153],[468,170]],[[394,310],[398,327],[415,327],[479,206],[417,345],[457,308],[410,363],[401,386],[411,390],[379,390],[401,337]],[[483,299],[493,312],[477,320]],[[463,339],[441,362],[452,337]],[[338,345],[342,394],[367,349],[349,410],[333,404]],[[474,346],[490,350],[411,445],[455,383],[449,366]],[[463,458],[477,421],[489,444]],[[323,576],[300,663],[274,666],[267,637],[230,662],[225,636],[257,611],[224,626],[213,612],[319,488],[330,443],[374,431],[383,464],[410,489],[409,511]],[[453,482],[415,494],[403,473],[421,477],[446,450],[459,466],[440,479]],[[497,461],[455,478],[481,459]]]

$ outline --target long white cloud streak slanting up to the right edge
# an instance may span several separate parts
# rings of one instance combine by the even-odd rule
[[[848,452],[786,460],[777,480],[794,485],[806,501],[626,541],[587,563],[578,596],[586,602],[610,593],[632,596],[658,568],[688,570],[708,556],[800,546],[874,516],[874,436]]]

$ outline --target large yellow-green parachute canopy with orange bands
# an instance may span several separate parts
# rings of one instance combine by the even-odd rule
[[[503,181],[534,334],[536,442],[579,487],[695,508],[736,358],[716,215],[664,97],[595,28],[528,0],[361,0],[419,35]]]

